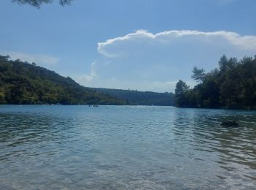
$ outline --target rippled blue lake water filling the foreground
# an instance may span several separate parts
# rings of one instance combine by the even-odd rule
[[[255,188],[253,111],[0,106],[0,189]]]

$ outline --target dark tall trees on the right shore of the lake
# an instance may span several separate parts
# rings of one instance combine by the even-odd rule
[[[256,56],[237,58],[222,56],[219,69],[206,73],[196,66],[190,89],[179,80],[176,84],[176,107],[256,109]]]

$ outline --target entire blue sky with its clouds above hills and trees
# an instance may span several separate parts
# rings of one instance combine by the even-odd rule
[[[0,54],[83,86],[174,91],[192,67],[256,54],[254,0],[0,1]]]

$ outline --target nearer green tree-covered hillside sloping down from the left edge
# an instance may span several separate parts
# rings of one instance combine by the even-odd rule
[[[0,56],[0,104],[124,104],[75,83],[70,77]]]

